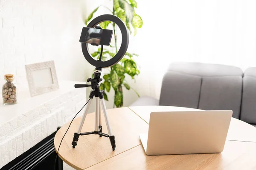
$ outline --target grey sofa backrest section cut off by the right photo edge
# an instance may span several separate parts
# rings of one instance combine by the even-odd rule
[[[256,68],[244,71],[241,120],[256,124]]]

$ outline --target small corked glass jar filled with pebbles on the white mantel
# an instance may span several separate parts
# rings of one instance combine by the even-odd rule
[[[3,85],[2,94],[3,94],[3,104],[10,105],[17,103],[17,88],[13,82],[13,74],[4,75],[6,83]]]

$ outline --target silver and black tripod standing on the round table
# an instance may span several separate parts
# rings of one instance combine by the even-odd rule
[[[91,82],[91,85],[83,85],[83,84],[76,84],[75,88],[84,88],[84,87],[91,87],[93,90],[90,91],[90,95],[89,95],[89,101],[87,103],[87,107],[84,110],[83,116],[81,118],[81,122],[79,124],[78,130],[76,133],[74,133],[74,137],[73,137],[73,148],[76,147],[79,136],[83,136],[83,135],[90,135],[90,134],[98,134],[99,137],[105,136],[105,137],[109,137],[110,139],[110,143],[112,146],[112,150],[115,150],[116,147],[116,141],[115,141],[115,136],[113,136],[112,131],[111,131],[111,127],[110,127],[110,123],[108,120],[108,114],[107,114],[107,109],[106,109],[106,105],[105,105],[105,101],[104,101],[104,97],[103,94],[105,93],[104,91],[99,89],[99,82],[102,81],[100,77],[100,73],[99,71],[95,71],[94,72],[94,77],[93,78],[89,78],[87,79],[87,82]],[[81,133],[82,127],[84,125],[84,120],[86,118],[86,115],[88,113],[90,104],[91,104],[91,100],[93,99],[93,96],[95,96],[95,127],[94,127],[94,131],[92,132],[84,132]],[[106,125],[107,125],[107,129],[108,129],[108,134],[102,133],[102,122],[101,122],[101,107],[100,104],[102,105],[102,110],[103,110],[103,114],[105,117],[105,121],[106,121]]]

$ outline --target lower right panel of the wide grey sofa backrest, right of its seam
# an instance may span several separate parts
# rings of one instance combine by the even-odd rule
[[[241,76],[203,77],[198,109],[232,110],[239,119],[242,82]]]

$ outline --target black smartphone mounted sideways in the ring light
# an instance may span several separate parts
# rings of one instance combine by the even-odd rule
[[[79,42],[94,45],[110,45],[112,34],[113,30],[110,29],[84,27]]]

